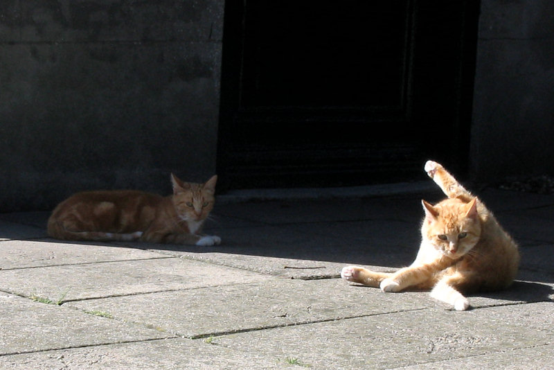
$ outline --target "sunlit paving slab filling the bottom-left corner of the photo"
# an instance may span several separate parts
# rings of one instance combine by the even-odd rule
[[[204,340],[172,338],[0,356],[1,369],[294,369],[284,358],[215,346]]]

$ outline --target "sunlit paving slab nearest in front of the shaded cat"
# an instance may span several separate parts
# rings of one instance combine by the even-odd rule
[[[183,258],[0,270],[0,290],[52,301],[238,284],[269,276]]]

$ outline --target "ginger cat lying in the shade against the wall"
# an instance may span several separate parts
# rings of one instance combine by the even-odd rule
[[[204,184],[171,174],[168,197],[142,191],[88,191],[64,200],[48,219],[48,235],[61,240],[140,240],[216,245],[219,236],[199,234],[215,202],[214,175]]]

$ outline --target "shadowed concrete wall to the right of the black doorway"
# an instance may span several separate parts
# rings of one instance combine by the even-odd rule
[[[481,0],[470,168],[554,174],[554,1]]]

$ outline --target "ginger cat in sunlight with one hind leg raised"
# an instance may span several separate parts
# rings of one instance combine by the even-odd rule
[[[518,248],[485,205],[443,166],[427,161],[425,171],[448,198],[434,206],[422,200],[425,219],[415,261],[394,273],[347,266],[341,276],[384,292],[431,290],[431,297],[467,310],[470,302],[463,294],[508,288],[517,274]]]

